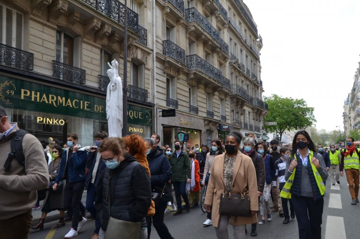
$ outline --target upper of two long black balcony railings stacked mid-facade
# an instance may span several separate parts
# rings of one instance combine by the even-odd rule
[[[196,22],[204,31],[210,34],[216,42],[220,43],[219,32],[195,8],[185,9],[185,18],[188,22]]]

